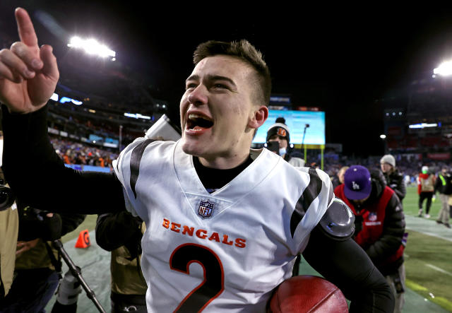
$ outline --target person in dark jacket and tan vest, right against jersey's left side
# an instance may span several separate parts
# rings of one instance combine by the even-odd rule
[[[98,215],[96,242],[112,252],[112,313],[146,310],[146,281],[141,272],[141,237],[145,223],[127,211]]]

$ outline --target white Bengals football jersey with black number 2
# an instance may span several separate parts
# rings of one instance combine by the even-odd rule
[[[333,201],[331,180],[252,150],[254,162],[209,194],[178,143],[139,138],[114,162],[146,224],[148,312],[265,312]]]

